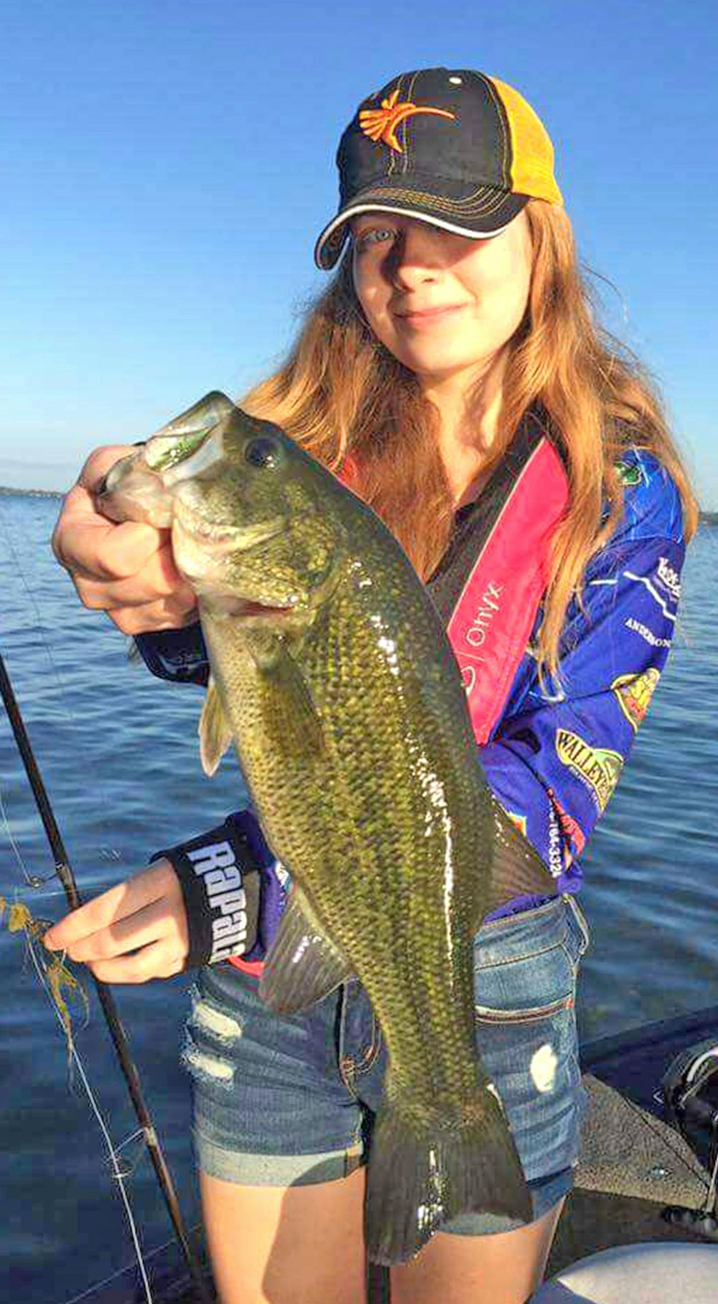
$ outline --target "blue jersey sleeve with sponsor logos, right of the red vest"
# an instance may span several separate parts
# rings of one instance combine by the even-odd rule
[[[567,613],[560,683],[521,668],[516,692],[481,748],[489,786],[547,865],[560,892],[605,811],[666,664],[684,561],[680,502],[644,454],[642,492],[592,559],[582,604]],[[655,531],[661,531],[657,533]]]

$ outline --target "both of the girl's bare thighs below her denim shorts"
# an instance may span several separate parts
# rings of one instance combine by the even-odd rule
[[[238,1187],[202,1172],[199,1183],[220,1304],[366,1304],[364,1168],[308,1187]],[[525,1304],[563,1202],[517,1231],[438,1232],[391,1269],[392,1304]]]

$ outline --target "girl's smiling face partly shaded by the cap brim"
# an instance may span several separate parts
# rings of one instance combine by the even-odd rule
[[[525,211],[489,240],[379,210],[353,218],[351,228],[354,288],[377,338],[427,382],[465,373],[470,383],[526,309]]]

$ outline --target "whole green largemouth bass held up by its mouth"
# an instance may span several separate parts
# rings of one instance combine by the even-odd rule
[[[235,743],[292,875],[261,998],[293,1013],[357,977],[379,1020],[370,1258],[409,1258],[465,1210],[530,1221],[476,1047],[493,803],[459,668],[405,553],[305,450],[222,394],[117,463],[99,502],[172,527],[211,662],[202,764],[212,773]]]

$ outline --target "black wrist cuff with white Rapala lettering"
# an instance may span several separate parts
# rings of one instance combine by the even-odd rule
[[[235,823],[155,852],[167,857],[182,889],[189,955],[186,969],[242,956],[257,941],[259,862]]]

